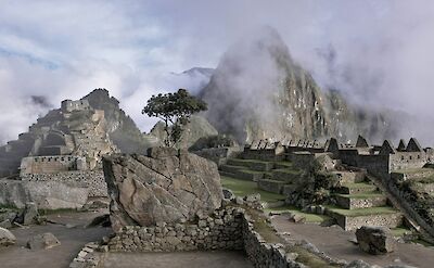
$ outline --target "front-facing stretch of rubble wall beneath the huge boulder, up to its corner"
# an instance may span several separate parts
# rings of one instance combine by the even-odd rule
[[[126,226],[108,243],[112,252],[242,250],[243,209],[228,207],[196,224]]]

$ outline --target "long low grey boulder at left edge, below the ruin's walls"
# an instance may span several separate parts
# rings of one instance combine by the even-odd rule
[[[0,204],[24,208],[35,202],[41,209],[80,208],[89,189],[69,187],[58,181],[0,180]]]

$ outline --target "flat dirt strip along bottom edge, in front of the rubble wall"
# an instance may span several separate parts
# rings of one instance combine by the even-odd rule
[[[242,252],[107,253],[104,268],[253,268]]]

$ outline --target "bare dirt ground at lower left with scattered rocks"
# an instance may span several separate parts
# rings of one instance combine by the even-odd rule
[[[12,229],[11,231],[15,234],[17,243],[0,250],[0,267],[68,267],[86,243],[100,240],[103,235],[112,232],[111,228],[84,228],[97,215],[95,213],[75,213],[49,216],[50,219],[58,222],[75,225],[75,228],[47,225],[31,226],[26,229]],[[40,251],[31,251],[25,247],[29,238],[44,232],[52,232],[61,241],[61,245]]]

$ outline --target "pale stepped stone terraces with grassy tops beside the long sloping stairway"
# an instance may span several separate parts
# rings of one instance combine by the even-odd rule
[[[363,173],[340,171],[340,188],[332,191],[335,206],[326,206],[326,214],[334,218],[345,230],[361,226],[385,226],[397,228],[403,225],[403,214],[393,208],[387,197]]]

